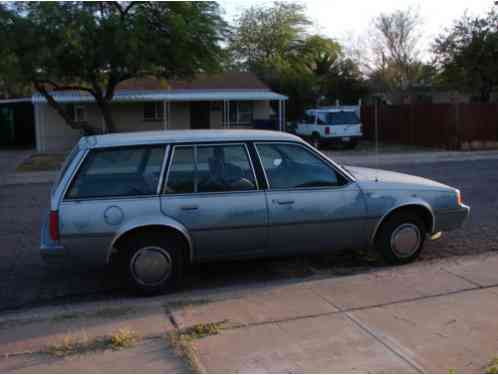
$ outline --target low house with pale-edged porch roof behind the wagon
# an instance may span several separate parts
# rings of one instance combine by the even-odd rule
[[[69,106],[75,121],[98,124],[102,132],[106,131],[92,96],[79,91],[52,95]],[[286,100],[252,73],[226,72],[199,75],[191,81],[166,83],[155,78],[135,78],[121,82],[111,111],[118,132],[264,126],[283,130]],[[37,151],[66,150],[82,136],[39,93],[33,95],[32,102]]]

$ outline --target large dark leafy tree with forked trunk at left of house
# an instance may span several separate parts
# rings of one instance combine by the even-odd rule
[[[120,82],[214,70],[225,31],[214,2],[32,2],[0,8],[2,54],[13,56],[19,76],[68,125],[86,133],[96,126],[75,123],[53,91],[91,95],[112,132],[111,102]]]

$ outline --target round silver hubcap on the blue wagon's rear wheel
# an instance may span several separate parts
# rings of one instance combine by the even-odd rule
[[[133,278],[143,285],[159,285],[166,280],[173,268],[169,253],[160,247],[139,249],[130,262]]]

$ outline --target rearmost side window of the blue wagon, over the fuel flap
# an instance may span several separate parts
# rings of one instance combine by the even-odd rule
[[[67,197],[156,194],[163,157],[163,146],[92,150],[72,182]]]

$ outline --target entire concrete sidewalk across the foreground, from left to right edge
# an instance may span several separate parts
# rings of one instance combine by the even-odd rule
[[[488,253],[4,314],[0,372],[483,371],[498,354],[497,270]],[[133,345],[111,344],[120,329]]]

